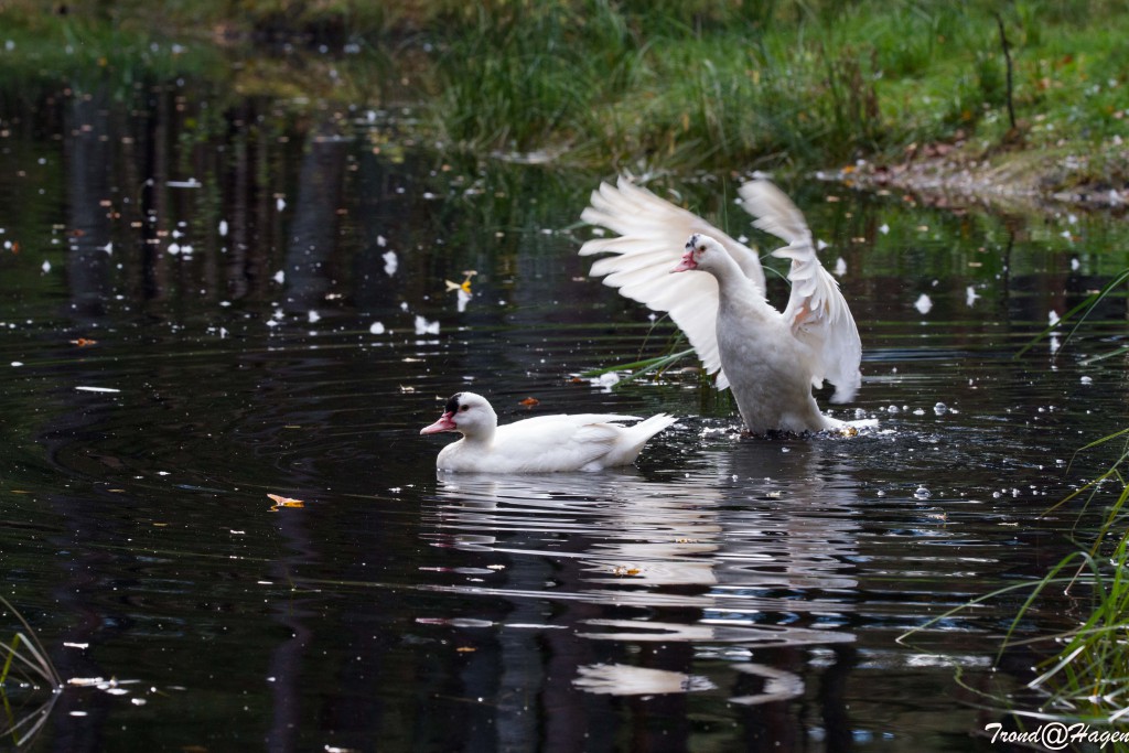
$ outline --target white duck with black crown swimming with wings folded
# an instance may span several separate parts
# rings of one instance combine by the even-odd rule
[[[659,413],[633,426],[634,415],[578,413],[539,415],[498,426],[490,402],[473,392],[450,396],[443,415],[421,435],[457,431],[458,441],[439,450],[440,471],[476,473],[548,473],[599,471],[629,465],[648,439],[677,419]]]

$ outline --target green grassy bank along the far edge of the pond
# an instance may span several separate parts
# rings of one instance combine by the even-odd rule
[[[1010,165],[998,180],[1048,192],[1126,184],[1124,0],[62,8],[17,0],[0,11],[17,50],[43,51],[36,71],[52,54],[68,64],[67,49],[85,53],[73,68],[113,68],[120,51],[155,58],[146,51],[158,37],[181,40],[181,52],[147,64],[173,68],[211,67],[221,49],[269,60],[278,45],[296,45],[339,64],[333,87],[308,76],[314,90],[291,81],[285,90],[294,97],[412,100],[428,135],[478,154],[599,169],[807,169],[857,160],[898,167],[939,151],[956,168]],[[6,71],[17,60],[9,50]],[[283,76],[271,70],[260,79]],[[1031,154],[1050,161],[1016,157]]]

